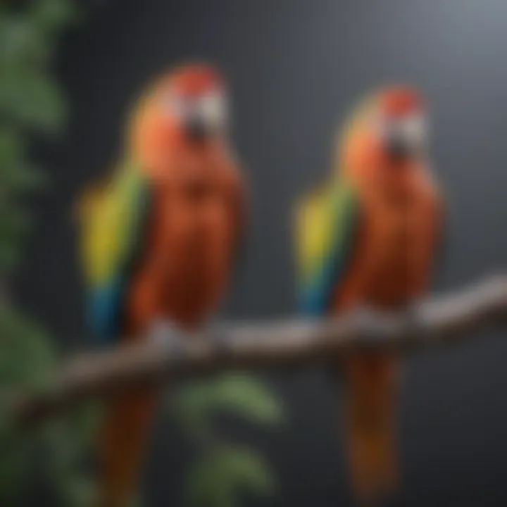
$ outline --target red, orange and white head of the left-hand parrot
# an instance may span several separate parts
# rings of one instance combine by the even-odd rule
[[[158,80],[134,113],[131,142],[142,161],[177,149],[205,148],[225,137],[227,91],[219,73],[184,65]]]

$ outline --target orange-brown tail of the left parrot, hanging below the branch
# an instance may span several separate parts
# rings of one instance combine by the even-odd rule
[[[155,411],[156,394],[148,391],[122,394],[108,405],[100,435],[98,507],[132,505]]]

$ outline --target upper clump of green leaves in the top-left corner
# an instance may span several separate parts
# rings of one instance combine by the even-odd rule
[[[6,1],[0,6],[0,277],[12,272],[30,225],[26,193],[42,182],[30,163],[30,138],[56,134],[65,104],[50,65],[71,0]]]

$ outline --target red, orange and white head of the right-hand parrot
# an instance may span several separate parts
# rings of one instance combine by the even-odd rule
[[[349,173],[401,180],[425,157],[423,99],[409,87],[389,87],[370,97],[346,125],[340,165]]]

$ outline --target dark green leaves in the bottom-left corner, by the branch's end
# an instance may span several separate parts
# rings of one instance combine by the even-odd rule
[[[0,310],[0,505],[23,504],[35,477],[62,506],[85,506],[92,488],[84,475],[95,409],[82,407],[65,418],[35,430],[14,427],[8,403],[18,389],[37,391],[48,386],[58,364],[51,340],[25,316]],[[32,484],[35,487],[35,484]],[[87,494],[84,492],[87,491]]]

